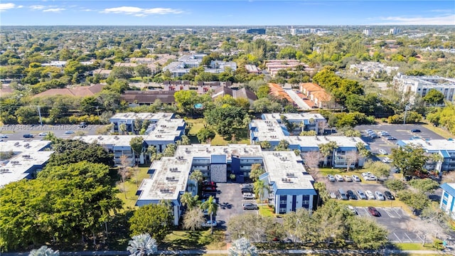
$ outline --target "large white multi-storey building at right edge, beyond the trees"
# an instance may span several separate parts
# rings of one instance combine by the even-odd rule
[[[402,92],[411,92],[414,95],[424,97],[429,90],[437,90],[444,94],[444,100],[454,102],[455,79],[434,76],[412,76],[398,73],[393,78],[393,85]],[[414,96],[411,97],[412,102]]]

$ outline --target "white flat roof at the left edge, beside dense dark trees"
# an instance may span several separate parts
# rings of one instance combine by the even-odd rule
[[[50,141],[33,139],[30,141],[11,140],[0,142],[0,151],[13,151],[15,155],[0,166],[0,188],[8,183],[20,181],[30,175],[33,166],[43,166],[53,151],[42,151]]]

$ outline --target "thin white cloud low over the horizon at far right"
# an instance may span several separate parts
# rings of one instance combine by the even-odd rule
[[[384,17],[380,25],[455,25],[455,14],[435,17]]]

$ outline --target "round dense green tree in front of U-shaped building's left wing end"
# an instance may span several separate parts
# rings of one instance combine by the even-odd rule
[[[142,206],[129,219],[129,230],[132,235],[152,234],[157,241],[163,240],[170,232],[173,217],[167,206],[150,204]]]

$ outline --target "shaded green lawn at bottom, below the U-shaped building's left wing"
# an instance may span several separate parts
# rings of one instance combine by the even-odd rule
[[[164,238],[164,250],[226,250],[225,233],[221,230],[213,230],[210,235],[210,228],[191,232],[187,230],[173,230]]]

